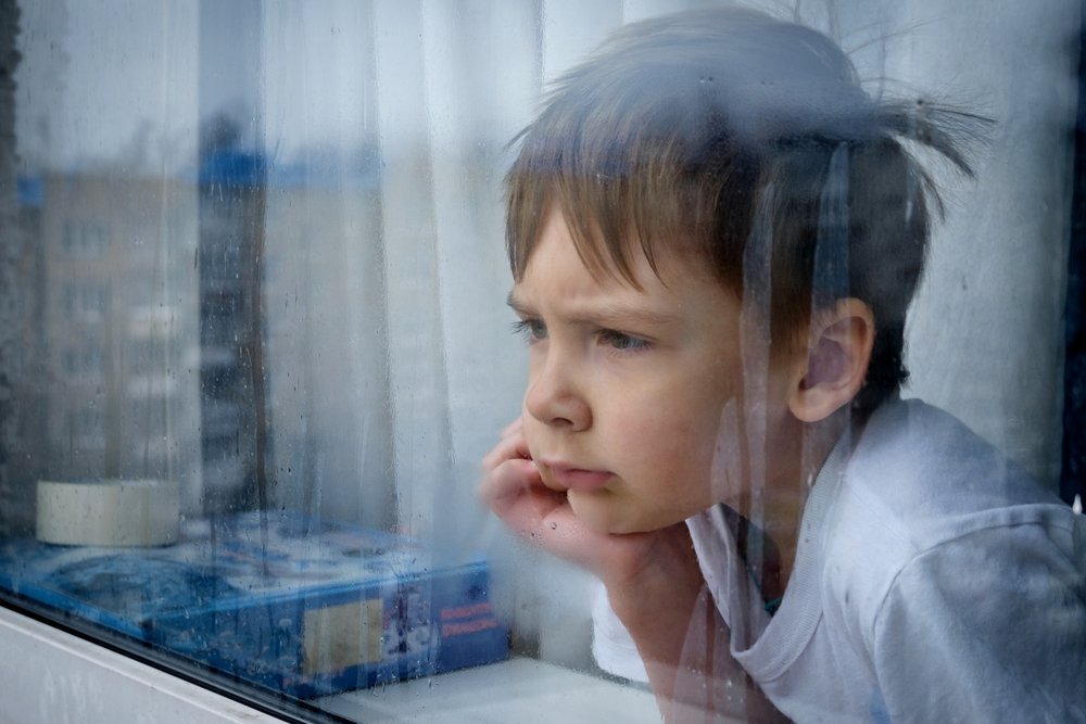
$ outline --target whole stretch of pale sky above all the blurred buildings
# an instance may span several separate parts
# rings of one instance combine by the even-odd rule
[[[366,3],[24,3],[17,136],[28,168],[194,164],[198,117],[290,154],[371,129]],[[371,82],[371,80],[369,80]]]

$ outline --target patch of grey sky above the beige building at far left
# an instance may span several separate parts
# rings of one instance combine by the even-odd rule
[[[16,117],[24,163],[70,167],[122,155],[177,163],[190,151],[195,4],[42,0],[22,10]]]

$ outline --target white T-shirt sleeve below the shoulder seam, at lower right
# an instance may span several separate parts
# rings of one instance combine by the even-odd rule
[[[1062,518],[902,569],[872,632],[887,720],[1086,722],[1086,519]]]

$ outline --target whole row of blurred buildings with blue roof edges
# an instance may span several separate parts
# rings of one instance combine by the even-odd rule
[[[34,374],[16,386],[13,515],[33,521],[38,479],[124,477],[178,480],[192,513],[387,521],[378,191],[370,156],[269,174],[238,149],[191,178],[22,179],[16,338]],[[425,346],[417,331],[397,344]]]

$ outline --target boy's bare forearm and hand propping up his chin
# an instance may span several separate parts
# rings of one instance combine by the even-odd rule
[[[592,531],[565,494],[543,485],[517,424],[506,429],[483,467],[479,494],[510,529],[603,582],[668,721],[779,717],[728,652],[728,628],[685,524],[629,535]]]

